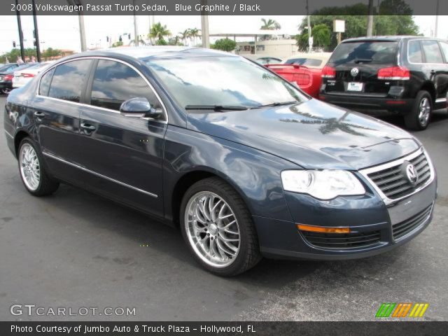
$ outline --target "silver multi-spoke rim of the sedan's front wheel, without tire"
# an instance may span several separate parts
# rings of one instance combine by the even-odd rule
[[[187,203],[184,223],[190,245],[204,262],[227,267],[241,245],[237,218],[229,204],[215,193],[201,191]]]

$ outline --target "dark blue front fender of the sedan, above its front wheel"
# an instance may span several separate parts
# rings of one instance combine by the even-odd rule
[[[165,216],[172,218],[176,183],[190,172],[209,172],[227,181],[254,216],[291,221],[280,172],[297,165],[232,141],[169,125],[165,136]]]

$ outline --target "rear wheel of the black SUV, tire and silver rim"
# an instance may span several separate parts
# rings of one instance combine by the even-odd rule
[[[431,114],[433,102],[428,91],[419,91],[414,100],[412,110],[405,116],[406,127],[410,130],[426,130]]]

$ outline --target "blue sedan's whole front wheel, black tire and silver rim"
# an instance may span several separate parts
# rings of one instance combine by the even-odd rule
[[[181,204],[181,232],[209,272],[234,276],[261,259],[252,216],[228,183],[209,178],[191,186]]]

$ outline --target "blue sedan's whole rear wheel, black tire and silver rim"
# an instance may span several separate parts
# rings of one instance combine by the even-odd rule
[[[57,190],[59,183],[45,171],[41,152],[31,139],[25,138],[20,142],[18,159],[20,178],[31,195],[46,196]]]

